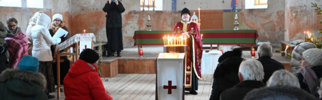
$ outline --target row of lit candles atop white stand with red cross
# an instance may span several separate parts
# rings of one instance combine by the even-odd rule
[[[163,44],[164,45],[187,45],[187,37],[186,36],[164,36]]]

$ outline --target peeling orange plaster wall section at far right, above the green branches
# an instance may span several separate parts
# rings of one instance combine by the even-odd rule
[[[285,40],[302,39],[304,31],[318,35],[320,32],[318,29],[322,27],[318,21],[322,15],[316,15],[311,2],[317,3],[319,7],[322,6],[322,0],[285,1]]]

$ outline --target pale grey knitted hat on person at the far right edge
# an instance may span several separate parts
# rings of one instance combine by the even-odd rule
[[[322,49],[310,48],[303,51],[304,59],[313,66],[322,65]]]

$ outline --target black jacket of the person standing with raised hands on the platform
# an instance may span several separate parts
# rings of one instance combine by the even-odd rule
[[[122,27],[122,15],[121,13],[125,11],[125,8],[123,7],[123,4],[121,1],[119,1],[119,4],[116,5],[115,2],[105,3],[105,6],[103,8],[104,12],[107,12],[106,14],[106,27],[107,28],[116,28],[116,27]]]

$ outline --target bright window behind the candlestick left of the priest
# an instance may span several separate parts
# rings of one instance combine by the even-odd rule
[[[147,6],[149,9],[147,9]],[[140,10],[162,10],[163,0],[140,0]]]

